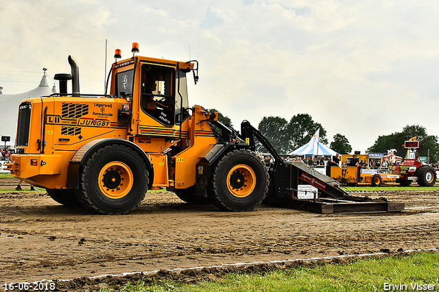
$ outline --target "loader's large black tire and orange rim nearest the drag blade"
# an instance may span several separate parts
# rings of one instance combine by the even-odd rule
[[[222,210],[248,211],[261,204],[268,191],[268,171],[257,154],[237,149],[212,169],[208,196]]]

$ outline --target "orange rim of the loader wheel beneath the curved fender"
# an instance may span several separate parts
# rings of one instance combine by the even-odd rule
[[[107,163],[99,172],[99,188],[111,199],[120,199],[132,188],[132,171],[125,163]]]

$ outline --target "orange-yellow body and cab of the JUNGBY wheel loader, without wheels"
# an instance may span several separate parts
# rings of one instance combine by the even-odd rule
[[[217,143],[206,122],[211,113],[200,106],[193,108],[192,115],[188,113],[182,75],[193,66],[135,56],[113,64],[110,96],[72,94],[23,100],[20,114],[29,114],[29,133],[20,140],[19,125],[11,174],[35,186],[69,188],[73,157],[90,149],[93,141],[117,138],[145,152],[153,167],[150,173],[154,173],[150,186],[192,186],[199,154]],[[145,94],[149,89],[145,79],[150,76],[155,78],[156,90]],[[171,147],[184,150],[172,155]]]

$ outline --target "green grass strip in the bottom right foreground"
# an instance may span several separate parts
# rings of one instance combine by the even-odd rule
[[[230,273],[218,281],[184,284],[169,280],[148,285],[139,281],[112,291],[383,291],[385,283],[434,284],[439,289],[439,253],[357,260],[346,265],[319,265],[270,271],[268,273]],[[394,289],[397,290],[397,289]],[[425,289],[424,289],[425,290]]]

